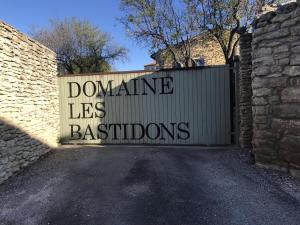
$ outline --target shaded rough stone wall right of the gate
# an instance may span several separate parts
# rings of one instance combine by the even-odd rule
[[[300,175],[300,6],[262,15],[252,43],[253,153],[258,164]]]

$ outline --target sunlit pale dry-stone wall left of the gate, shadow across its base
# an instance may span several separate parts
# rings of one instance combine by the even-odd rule
[[[0,21],[0,183],[56,146],[55,53]]]

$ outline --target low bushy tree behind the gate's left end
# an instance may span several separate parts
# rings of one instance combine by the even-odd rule
[[[108,71],[111,63],[127,55],[108,34],[76,18],[52,20],[50,28],[33,31],[32,36],[57,53],[60,73]]]

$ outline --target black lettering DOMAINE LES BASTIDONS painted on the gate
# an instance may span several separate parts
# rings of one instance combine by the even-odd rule
[[[174,78],[172,76],[154,78],[135,78],[130,80],[132,85],[122,80],[116,88],[114,80],[107,82],[85,81],[82,85],[78,82],[68,82],[68,98],[76,99],[81,96],[85,98],[110,97],[118,98],[125,96],[130,98],[137,95],[172,95],[174,94]],[[69,120],[78,119],[103,119],[107,116],[105,102],[98,101],[68,103]],[[72,140],[187,140],[190,138],[190,127],[188,122],[171,123],[102,123],[99,120],[97,127],[90,124],[69,124],[70,137]]]

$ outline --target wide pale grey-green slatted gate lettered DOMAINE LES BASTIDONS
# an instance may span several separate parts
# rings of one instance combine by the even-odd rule
[[[231,144],[229,66],[59,78],[61,142]]]

